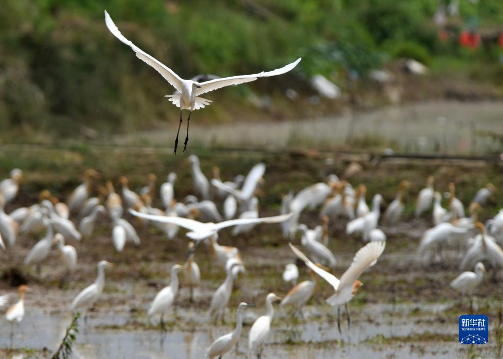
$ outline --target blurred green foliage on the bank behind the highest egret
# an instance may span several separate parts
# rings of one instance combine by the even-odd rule
[[[185,78],[198,73],[253,73],[302,56],[291,76],[275,79],[274,86],[267,79],[249,85],[274,93],[273,88],[307,83],[317,73],[344,88],[347,76],[341,73],[363,76],[396,57],[425,63],[437,55],[444,60],[459,57],[463,53],[455,39],[451,45],[437,40],[432,17],[439,4],[438,0],[4,0],[0,132],[79,136],[82,128],[92,128],[98,133],[122,133],[164,120],[167,111],[175,113],[162,97],[173,89],[108,32],[105,9],[128,39]],[[500,0],[477,4],[461,0],[460,12],[482,25],[503,22]],[[500,52],[495,48],[489,56],[480,51],[484,53],[480,57],[494,61]],[[479,55],[466,56],[470,60]],[[225,91],[237,98],[248,93]]]

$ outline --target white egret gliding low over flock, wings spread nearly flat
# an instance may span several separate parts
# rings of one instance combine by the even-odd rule
[[[212,222],[202,223],[190,218],[151,215],[151,214],[140,213],[131,209],[129,211],[131,212],[132,215],[140,218],[156,220],[164,223],[172,223],[180,227],[189,229],[190,231],[187,232],[186,235],[195,242],[194,250],[199,245],[199,243],[206,240],[210,236],[217,234],[220,229],[238,224],[281,223],[285,220],[288,220],[292,216],[292,213],[289,213],[278,216],[255,218],[255,219],[247,219],[247,218],[230,219],[220,223],[212,223]]]

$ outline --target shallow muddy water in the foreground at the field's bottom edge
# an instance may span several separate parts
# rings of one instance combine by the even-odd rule
[[[437,314],[452,304],[378,304],[352,308],[353,323],[347,328],[342,320],[343,334],[337,330],[336,316],[332,308],[305,308],[308,321],[295,325],[288,323],[284,313],[277,312],[269,345],[265,349],[267,357],[275,358],[331,358],[333,350],[341,357],[363,357],[376,355],[387,357],[425,358],[440,355],[446,358],[459,357],[465,348],[457,343],[457,323],[443,323]],[[350,309],[351,310],[351,309]],[[414,315],[409,315],[414,312]],[[417,314],[419,313],[419,314]],[[195,311],[181,311],[175,320],[197,322],[200,314]],[[237,357],[245,357],[246,336],[249,324],[256,314],[248,313],[239,341]],[[180,319],[183,318],[183,319]],[[83,327],[74,345],[76,358],[201,358],[212,340],[232,330],[231,326],[218,326],[213,330],[207,324],[198,323],[194,332],[168,329],[161,333],[152,329],[108,329],[124,326],[133,318],[127,314],[93,313],[88,326]],[[136,320],[136,319],[135,319]],[[145,319],[146,320],[146,319]],[[15,327],[14,342],[10,339],[10,326],[2,321],[0,327],[0,347],[29,347],[52,352],[59,345],[71,317],[68,313],[48,313],[40,309],[27,310],[24,320]],[[141,320],[140,320],[141,321]],[[425,343],[401,343],[400,338],[425,333],[452,334],[451,342],[429,341]],[[381,342],[383,338],[396,339],[392,345]],[[287,344],[293,343],[293,344]],[[309,344],[307,344],[309,343]],[[361,345],[365,343],[365,345]],[[333,347],[333,349],[327,350]]]

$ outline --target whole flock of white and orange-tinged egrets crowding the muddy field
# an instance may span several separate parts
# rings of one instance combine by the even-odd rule
[[[227,309],[234,281],[239,273],[244,271],[244,262],[239,250],[235,247],[221,246],[218,244],[218,232],[226,227],[233,227],[233,235],[253,233],[254,227],[259,223],[280,223],[283,236],[290,241],[289,246],[295,256],[305,263],[312,279],[296,283],[299,270],[294,263],[286,266],[283,279],[291,282],[294,287],[284,296],[278,297],[270,293],[266,298],[267,313],[259,317],[250,329],[248,345],[250,355],[261,355],[264,344],[271,330],[271,321],[274,317],[273,303],[281,300],[281,306],[292,306],[301,318],[304,318],[302,307],[313,295],[318,277],[328,282],[334,289],[334,294],[326,299],[332,306],[338,307],[338,328],[340,326],[340,306],[345,305],[348,327],[351,324],[348,302],[355,296],[362,282],[360,275],[376,264],[384,251],[386,234],[378,228],[381,212],[382,197],[374,195],[372,207],[366,202],[366,187],[354,187],[345,180],[340,180],[336,175],[330,175],[326,182],[315,183],[298,193],[291,193],[282,198],[281,213],[272,217],[259,216],[259,201],[256,193],[263,182],[266,166],[263,163],[255,165],[246,176],[236,176],[234,180],[224,182],[220,178],[218,168],[213,169],[213,178],[207,179],[201,171],[199,159],[192,155],[189,157],[197,196],[188,196],[183,202],[175,199],[176,174],[167,176],[165,183],[158,188],[156,176],[148,175],[148,183],[139,193],[128,188],[128,180],[119,178],[119,188],[116,192],[111,181],[104,186],[97,186],[101,175],[95,170],[85,173],[83,183],[73,190],[66,204],[53,197],[48,190],[40,194],[40,202],[29,207],[21,207],[11,213],[5,213],[6,203],[15,203],[16,195],[20,190],[23,172],[15,169],[8,179],[0,182],[0,245],[5,250],[15,250],[18,233],[38,235],[45,229],[45,235],[36,243],[25,259],[25,265],[35,265],[40,275],[40,266],[46,260],[53,245],[57,246],[60,257],[67,269],[65,280],[70,278],[71,272],[77,267],[77,253],[75,248],[65,245],[65,241],[81,241],[82,238],[93,236],[95,222],[98,215],[110,218],[112,224],[111,239],[115,251],[121,252],[128,242],[141,245],[135,227],[122,217],[123,208],[138,217],[143,225],[152,225],[162,231],[167,238],[177,236],[179,228],[188,231],[185,235],[189,238],[189,252],[186,263],[182,266],[176,264],[171,270],[170,284],[155,296],[151,303],[148,315],[160,316],[160,324],[164,328],[164,316],[170,313],[179,289],[179,273],[183,272],[185,283],[193,289],[200,284],[201,272],[196,264],[195,255],[201,244],[205,244],[214,258],[215,263],[224,268],[225,281],[213,294],[208,309],[208,320],[216,323],[219,318],[223,320]],[[395,199],[387,207],[382,222],[396,224],[400,221],[404,210],[404,191],[409,182],[402,181]],[[453,243],[460,251],[466,248],[466,255],[461,261],[461,268],[475,269],[475,272],[464,272],[454,279],[451,286],[465,294],[471,294],[473,289],[482,281],[486,261],[493,266],[494,271],[503,267],[503,251],[497,244],[503,240],[503,211],[484,226],[478,222],[477,213],[481,206],[486,205],[488,198],[495,191],[493,185],[488,184],[480,189],[469,206],[470,216],[465,217],[465,210],[461,201],[456,198],[455,186],[449,185],[448,208],[441,205],[441,195],[434,191],[434,178],[430,176],[427,187],[417,196],[415,216],[424,215],[433,205],[434,227],[427,230],[421,240],[418,256],[425,261],[428,254],[440,256],[442,247]],[[158,193],[158,195],[157,195]],[[97,194],[97,196],[93,196]],[[158,200],[164,209],[152,207],[152,201]],[[278,199],[279,200],[279,199]],[[218,207],[223,209],[223,217]],[[321,224],[314,229],[309,229],[305,224],[299,224],[301,213],[306,209],[320,209]],[[73,220],[71,220],[72,218]],[[196,220],[197,218],[197,220]],[[336,268],[337,261],[330,251],[328,227],[333,221],[347,218],[347,233],[360,235],[364,245],[355,255],[351,266],[338,279],[331,273]],[[77,224],[74,224],[77,223]],[[471,238],[474,231],[480,234]],[[303,250],[293,246],[295,234],[300,232]],[[467,241],[461,241],[467,238]],[[471,239],[468,239],[471,238]],[[5,241],[5,243],[4,243]],[[460,245],[460,243],[462,245]],[[305,252],[307,255],[305,255]],[[433,258],[435,260],[435,258]],[[253,258],[248,259],[253,261]],[[89,287],[83,289],[73,300],[70,310],[87,312],[103,292],[105,284],[105,268],[113,267],[107,261],[98,263],[98,277]],[[204,277],[204,276],[203,276]],[[24,295],[29,288],[25,285],[19,288],[19,301],[7,311],[7,320],[21,321],[24,316]],[[0,297],[0,306],[5,305],[8,295]],[[230,351],[240,337],[243,310],[249,304],[242,302],[237,309],[236,328],[233,332],[224,335],[208,348],[208,357],[219,357]]]

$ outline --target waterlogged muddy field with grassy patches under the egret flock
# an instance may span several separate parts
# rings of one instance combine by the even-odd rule
[[[281,194],[295,192],[319,181],[326,175],[343,175],[349,159],[331,155],[308,157],[295,154],[250,153],[199,153],[203,172],[210,177],[211,169],[218,165],[221,177],[230,180],[245,174],[260,161],[267,165],[264,195],[260,197],[261,215],[279,212]],[[501,281],[493,283],[491,272],[477,290],[474,313],[486,314],[490,321],[489,343],[469,346],[458,342],[458,317],[470,312],[469,302],[448,287],[459,273],[458,264],[466,244],[453,244],[444,251],[446,263],[425,263],[416,255],[420,237],[431,226],[429,215],[412,218],[416,193],[424,187],[426,177],[436,177],[436,187],[444,192],[454,181],[457,196],[465,205],[475,191],[486,182],[503,188],[501,166],[485,162],[409,162],[381,161],[371,165],[362,162],[363,169],[348,178],[353,185],[368,186],[368,200],[374,193],[384,196],[385,204],[393,198],[402,179],[412,182],[406,198],[404,221],[393,227],[382,226],[388,235],[383,256],[376,266],[364,273],[363,287],[350,302],[352,325],[348,328],[346,317],[342,320],[342,335],[337,330],[337,312],[324,304],[331,287],[321,282],[318,291],[304,308],[306,321],[291,316],[289,310],[276,306],[265,357],[269,358],[459,358],[497,357],[501,355],[503,340],[499,313],[503,310]],[[0,151],[0,178],[7,176],[13,167],[25,171],[25,182],[19,197],[9,205],[7,212],[19,206],[35,203],[38,193],[45,188],[53,195],[65,199],[80,181],[86,168],[99,170],[105,179],[116,180],[120,175],[130,179],[130,187],[138,190],[146,182],[149,172],[160,181],[175,171],[176,198],[181,200],[193,193],[189,166],[184,157],[174,157],[168,151],[130,148],[82,147],[76,149],[4,148]],[[288,173],[288,176],[285,174]],[[160,184],[160,182],[159,182]],[[492,217],[503,204],[499,191],[481,213],[481,219]],[[159,206],[158,200],[154,206]],[[221,208],[221,203],[218,203]],[[383,205],[384,208],[384,205]],[[121,254],[113,250],[111,223],[101,218],[95,235],[81,243],[70,243],[78,252],[78,270],[68,284],[59,288],[63,267],[54,250],[42,267],[38,278],[33,268],[22,263],[30,248],[43,233],[37,236],[21,235],[15,247],[0,252],[0,294],[14,292],[15,286],[26,282],[33,291],[26,297],[26,316],[16,325],[13,340],[11,327],[0,318],[0,352],[4,357],[50,357],[61,342],[65,328],[71,321],[67,308],[75,295],[96,278],[96,264],[108,260],[117,265],[106,272],[103,295],[90,312],[88,325],[79,321],[80,332],[74,344],[77,358],[200,358],[206,348],[219,335],[229,332],[235,324],[235,308],[241,301],[256,304],[246,309],[245,326],[237,350],[229,357],[246,357],[249,326],[258,315],[265,312],[265,297],[273,291],[285,295],[290,285],[283,282],[281,273],[294,256],[286,246],[277,225],[256,227],[248,237],[231,237],[230,230],[220,233],[219,243],[240,249],[246,272],[240,275],[230,298],[226,323],[210,325],[206,321],[211,295],[223,282],[224,273],[213,264],[201,247],[196,262],[202,273],[202,285],[196,289],[195,302],[188,300],[189,290],[182,281],[173,314],[167,317],[167,331],[160,332],[158,319],[149,319],[146,311],[155,294],[169,282],[169,270],[175,263],[185,260],[187,240],[180,230],[174,241],[166,240],[153,228],[141,227],[134,218],[125,216],[138,230],[141,246],[130,244]],[[300,222],[314,227],[318,212],[307,211]],[[330,225],[329,248],[338,265],[334,274],[340,276],[350,265],[354,253],[362,246],[357,238],[345,234],[346,220]],[[299,245],[299,238],[294,244]],[[486,266],[489,268],[489,266]],[[300,280],[308,279],[305,267],[299,267]]]

